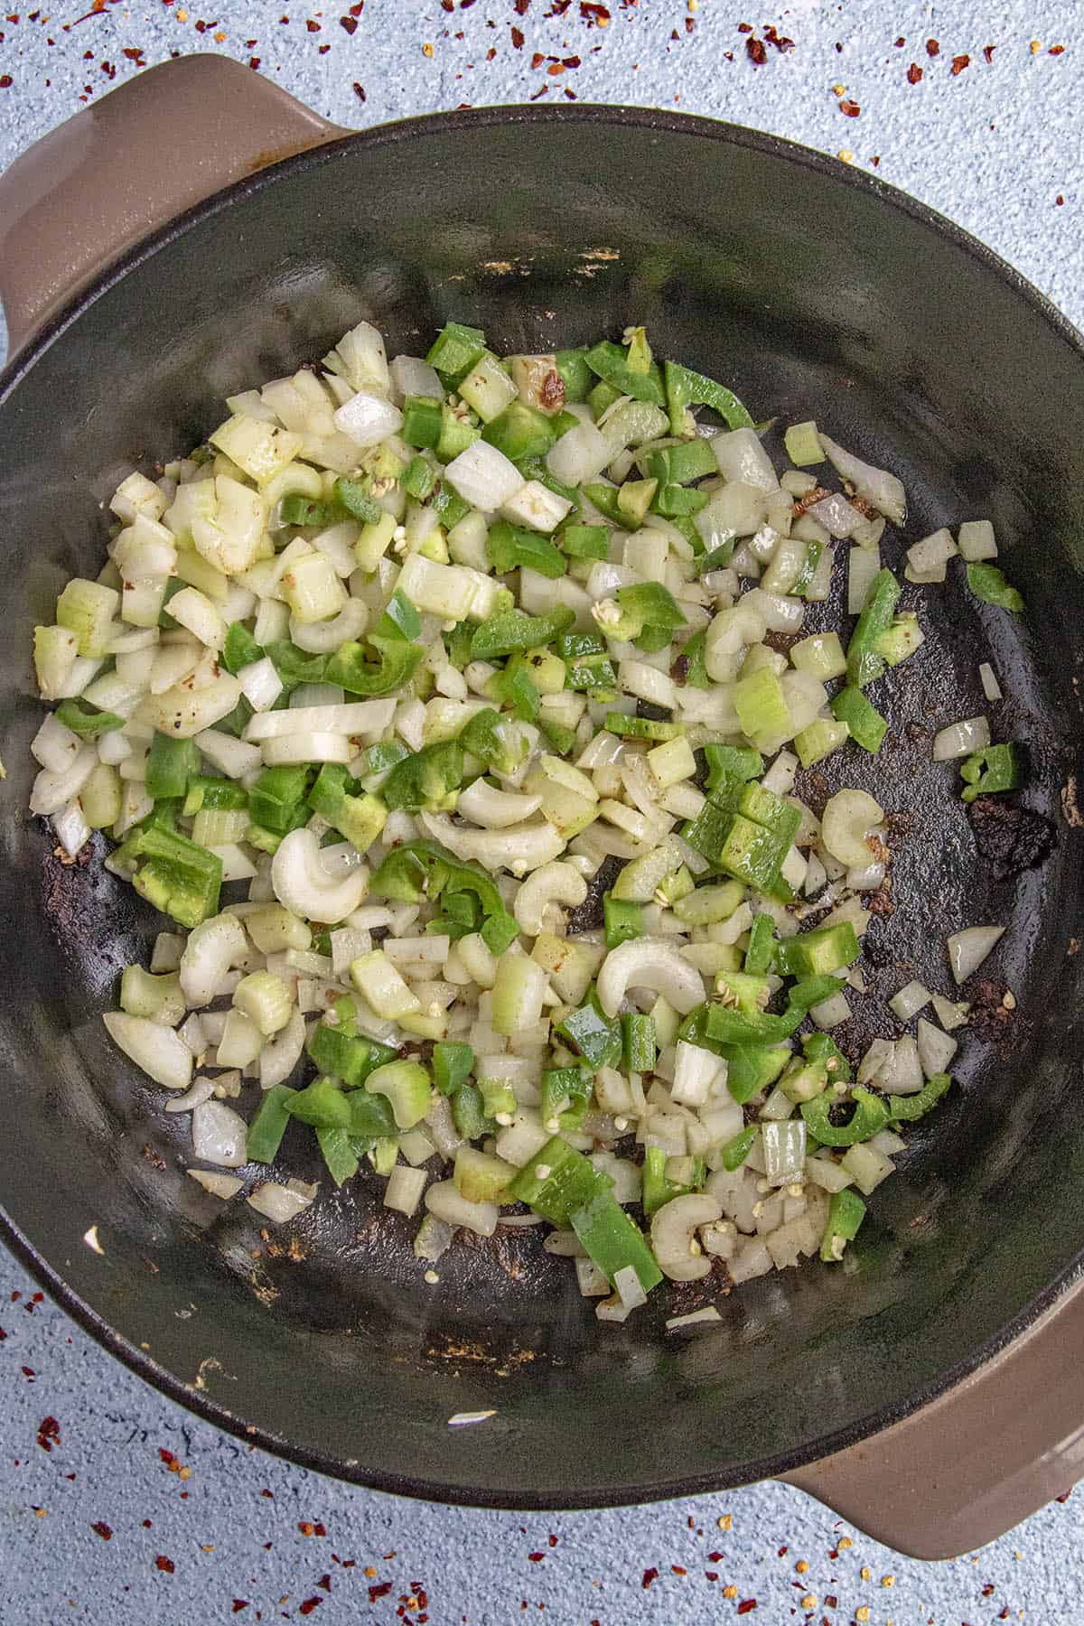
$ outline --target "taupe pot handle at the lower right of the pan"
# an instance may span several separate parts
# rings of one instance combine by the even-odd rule
[[[783,1475],[912,1558],[957,1558],[1084,1475],[1084,1285],[939,1400]]]

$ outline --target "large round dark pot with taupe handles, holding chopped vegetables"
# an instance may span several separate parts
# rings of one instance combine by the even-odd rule
[[[1060,820],[1081,740],[1081,341],[978,244],[866,177],[726,125],[582,106],[449,114],[315,146],[189,208],[63,304],[80,273],[245,159],[338,133],[255,75],[189,59],[80,114],[3,182],[16,338],[47,317],[0,397],[5,1236],[166,1393],[343,1478],[548,1507],[790,1470],[912,1551],[986,1540],[1076,1476],[1064,1447],[1084,1416],[1064,1376],[1074,1348],[1058,1361],[1051,1333],[1017,1340],[986,1366],[983,1400],[965,1384],[886,1444],[855,1442],[1042,1325],[1077,1272],[1079,846],[1061,821],[1042,868],[995,883],[930,737],[983,709],[977,665],[990,657],[1006,691],[996,737],[1029,741],[1025,800]],[[166,150],[177,174],[148,185]],[[107,176],[94,166],[102,151],[115,159]],[[647,322],[660,353],[725,379],[757,416],[816,416],[899,470],[907,541],[993,519],[1027,595],[1021,624],[962,590],[905,592],[926,646],[878,693],[891,811],[905,815],[897,911],[869,932],[873,995],[855,1002],[842,1039],[887,1033],[882,998],[912,974],[951,992],[941,943],[973,922],[1009,924],[986,969],[1014,990],[1017,1016],[990,1044],[965,1039],[959,1088],[873,1200],[858,1273],[814,1263],[759,1280],[725,1302],[715,1330],[666,1335],[665,1302],[600,1330],[566,1267],[522,1231],[465,1237],[426,1286],[413,1224],[380,1210],[372,1184],[358,1197],[325,1184],[306,1216],[267,1237],[244,1203],[202,1193],[184,1172],[187,1119],[161,1112],[161,1093],[99,1021],[154,917],[96,862],[60,865],[23,813],[41,717],[29,629],[70,574],[96,572],[99,502],[119,475],[192,446],[226,392],[319,358],[361,317],[390,351],[416,351],[449,315],[484,325],[505,351]],[[902,545],[887,545],[887,563]],[[826,764],[821,793],[843,780],[874,774],[845,753]],[[283,1161],[317,1172],[301,1135]],[[1019,1395],[1040,1372],[1029,1413]],[[998,1429],[1004,1452],[991,1446],[983,1463],[983,1419],[1006,1406],[1006,1382],[1017,1405]],[[449,1428],[475,1410],[494,1415]],[[923,1418],[934,1419],[925,1433]],[[923,1460],[941,1441],[952,1462]],[[796,1472],[842,1447],[853,1449],[835,1472]],[[1055,1447],[1056,1470],[1030,1467]],[[960,1478],[980,1472],[1001,1501],[952,1525]]]

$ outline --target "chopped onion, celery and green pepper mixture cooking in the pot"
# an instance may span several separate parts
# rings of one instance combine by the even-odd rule
[[[226,405],[120,483],[109,561],[34,633],[31,811],[70,860],[107,833],[169,917],[104,1021],[190,1114],[192,1177],[296,1216],[294,1120],[429,1280],[458,1228],[548,1221],[601,1320],[663,1276],[847,1268],[969,1016],[912,980],[900,1037],[837,1046],[884,810],[793,793],[879,751],[878,688],[921,660],[879,558],[900,481],[816,423],[774,467],[639,327],[501,358],[449,322],[388,366],[362,322]],[[986,520],[904,574],[957,553],[1022,610]],[[847,624],[803,636],[837,569]],[[973,815],[1021,782],[986,717],[933,754]],[[947,940],[957,984],[1001,930]]]

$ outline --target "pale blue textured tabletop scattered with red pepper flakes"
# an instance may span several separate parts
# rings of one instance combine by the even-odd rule
[[[1084,320],[1079,5],[741,5],[228,0],[203,15],[177,0],[60,0],[0,16],[0,167],[111,83],[193,50],[249,62],[346,125],[535,96],[679,106],[876,169]],[[1081,1618],[1079,1494],[941,1566],[900,1559],[777,1485],[561,1517],[414,1506],[247,1452],[33,1294],[0,1259],[3,1626],[317,1611],[366,1626]]]

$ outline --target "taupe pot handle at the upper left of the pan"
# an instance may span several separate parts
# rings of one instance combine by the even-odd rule
[[[91,276],[242,176],[348,132],[229,57],[128,80],[0,177],[0,299],[21,350]]]

